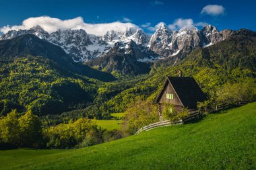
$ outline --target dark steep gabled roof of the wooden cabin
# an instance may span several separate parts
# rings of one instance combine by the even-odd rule
[[[205,101],[207,99],[193,77],[167,77],[160,93],[156,97],[156,103],[160,101],[168,83],[172,85],[185,108],[196,109],[197,101]]]

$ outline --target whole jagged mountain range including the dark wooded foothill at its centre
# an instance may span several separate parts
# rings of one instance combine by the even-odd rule
[[[238,31],[227,29],[219,32],[211,25],[201,30],[183,28],[179,31],[172,31],[165,24],[161,24],[151,37],[135,28],[127,28],[125,32],[107,31],[104,36],[96,36],[87,34],[82,29],[57,30],[49,34],[40,26],[36,26],[30,30],[8,32],[1,36],[0,42],[15,40],[18,36],[26,34],[32,34],[44,43],[49,42],[62,48],[63,52],[59,56],[65,56],[65,60],[71,65],[79,62],[83,63],[84,67],[88,65],[88,68],[118,73],[117,75],[139,75],[149,73],[152,65],[161,65],[161,63],[177,65],[193,50],[218,44],[232,35],[248,34],[250,36],[255,32],[246,29]],[[40,52],[38,55],[45,56]],[[57,60],[55,58],[55,61]],[[84,71],[80,66],[80,69],[77,68],[72,66],[72,69],[79,73]]]

